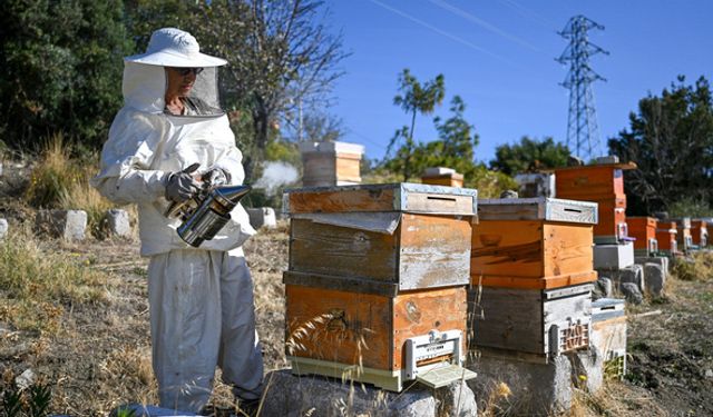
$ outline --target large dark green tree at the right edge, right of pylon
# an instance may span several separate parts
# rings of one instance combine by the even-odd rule
[[[638,169],[625,171],[628,211],[668,210],[683,199],[713,203],[713,105],[709,81],[648,95],[629,115],[629,129],[608,141],[612,153]]]

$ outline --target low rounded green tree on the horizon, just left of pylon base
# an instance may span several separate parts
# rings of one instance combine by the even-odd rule
[[[495,149],[496,159],[490,161],[490,169],[514,176],[538,169],[567,166],[569,149],[547,137],[543,140],[527,136],[519,143],[500,145]]]

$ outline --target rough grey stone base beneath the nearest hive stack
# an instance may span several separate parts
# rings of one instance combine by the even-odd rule
[[[289,369],[265,376],[263,416],[476,416],[476,399],[466,383],[433,390],[413,386],[390,393],[361,383],[322,376],[296,376]]]

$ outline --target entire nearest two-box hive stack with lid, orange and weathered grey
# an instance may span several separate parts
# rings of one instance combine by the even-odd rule
[[[476,193],[413,183],[289,190],[293,371],[397,391],[409,379],[473,376],[459,366]]]

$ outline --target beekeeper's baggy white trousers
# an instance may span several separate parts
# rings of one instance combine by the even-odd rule
[[[262,394],[253,282],[242,250],[172,250],[148,266],[153,365],[160,406],[198,411],[215,367],[238,398]]]

